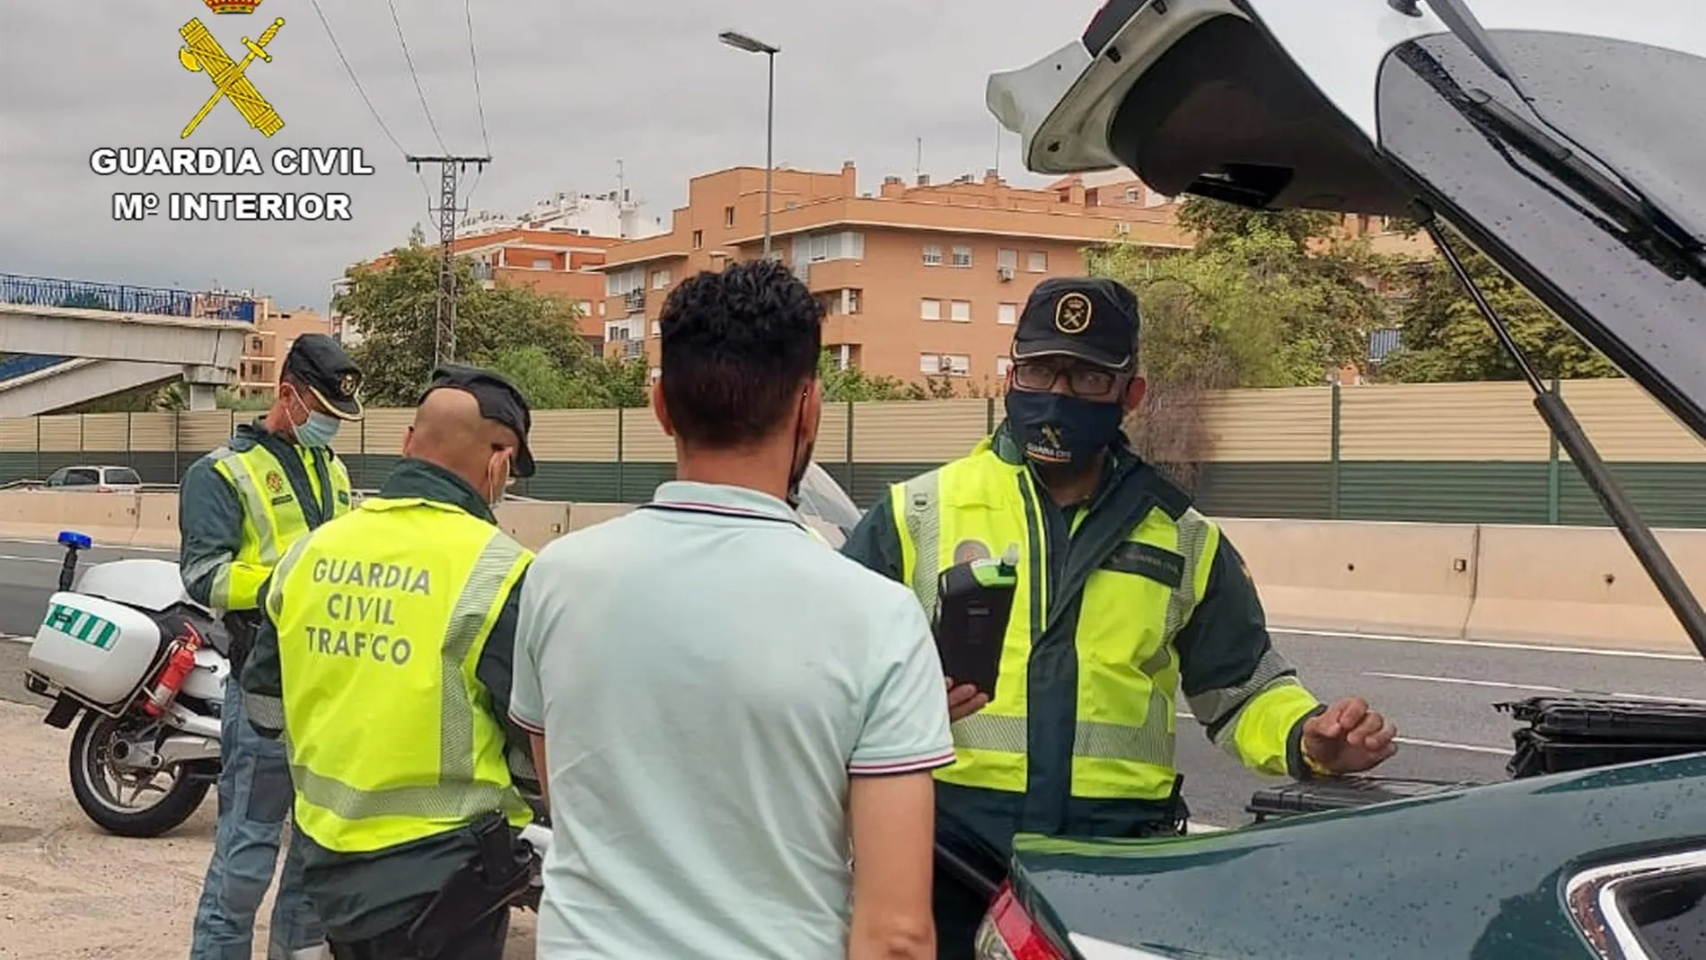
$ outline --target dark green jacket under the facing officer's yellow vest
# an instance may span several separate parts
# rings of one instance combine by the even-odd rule
[[[991,443],[1003,460],[1020,462],[1018,447],[1007,433],[1005,425],[996,430]],[[1065,580],[1066,570],[1085,568],[1090,559],[1075,556],[1073,551],[1090,549],[1083,544],[1119,542],[1129,530],[1119,530],[1119,535],[1111,537],[1112,532],[1105,530],[1105,525],[1117,522],[1112,520],[1114,515],[1141,517],[1146,513],[1146,510],[1119,508],[1131,500],[1145,498],[1174,515],[1184,513],[1191,503],[1189,494],[1124,447],[1112,450],[1102,484],[1088,506],[1061,508],[1053,500],[1044,498],[1042,515],[1047,529],[1042,535],[1049,542],[1047,595],[1061,602],[1058,585]],[[1080,510],[1088,510],[1088,515],[1073,532],[1075,513]],[[1065,549],[1059,544],[1066,544]],[[901,535],[891,498],[884,496],[870,508],[848,535],[841,552],[891,580],[906,581]],[[1099,558],[1088,566],[1094,568],[1097,561]],[[1032,725],[1032,776],[1027,793],[976,789],[938,781],[937,808],[942,813],[940,829],[943,834],[952,836],[960,829],[969,829],[976,837],[1005,853],[1010,849],[1015,832],[1140,836],[1169,817],[1165,803],[1070,801],[1071,732],[1076,723],[1076,656],[1071,651],[1073,638],[1078,633],[1078,607],[1076,602],[1071,602],[1070,612],[1061,616],[1032,646],[1032,670],[1027,687]],[[1174,646],[1179,653],[1179,682],[1186,697],[1220,694],[1211,697],[1218,704],[1218,716],[1204,721],[1210,740],[1220,733],[1227,720],[1237,716],[1239,709],[1271,689],[1266,684],[1256,684],[1252,689],[1250,680],[1259,668],[1271,677],[1269,684],[1273,679],[1295,679],[1297,675],[1295,668],[1283,663],[1278,677],[1271,675],[1278,653],[1268,636],[1261,600],[1244,559],[1227,539],[1220,541],[1220,549],[1211,561],[1208,588],[1198,602],[1196,612],[1179,631]],[[1037,680],[1042,677],[1049,677],[1053,682],[1039,684]],[[1322,709],[1326,708],[1315,708],[1298,720],[1286,738],[1286,767],[1293,778],[1310,778],[1300,752],[1303,720]]]

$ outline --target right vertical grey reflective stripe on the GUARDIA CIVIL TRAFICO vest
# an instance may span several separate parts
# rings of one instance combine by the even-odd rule
[[[510,571],[524,556],[522,546],[495,530],[486,547],[479,551],[474,570],[456,599],[450,622],[445,624],[444,655],[440,668],[438,714],[438,779],[471,781],[474,779],[474,704],[467,697],[467,684],[462,679],[462,665],[491,622],[498,619],[498,593],[508,580]]]

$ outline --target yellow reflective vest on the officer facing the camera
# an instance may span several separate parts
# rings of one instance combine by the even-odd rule
[[[1148,510],[1129,527],[1102,532],[1107,542],[1095,551],[1094,570],[1073,570],[1092,561],[1070,558],[1065,583],[1082,583],[1073,602],[1049,595],[1051,581],[1061,578],[1049,576],[1059,558],[1049,556],[1056,544],[1044,534],[1047,491],[1022,462],[1001,459],[989,438],[966,459],[896,484],[891,496],[902,578],[930,614],[942,570],[976,558],[1018,558],[995,699],[954,723],[957,762],[938,769],[937,779],[1022,795],[1037,789],[1034,767],[1046,766],[1056,771],[1053,779],[1070,778],[1056,786],[1071,803],[1169,800],[1181,682],[1175,641],[1208,590],[1220,529],[1187,505],[1170,510],[1146,498]],[[1076,554],[1087,517],[1094,515],[1073,518]],[[1293,728],[1320,704],[1271,646],[1250,656],[1250,667],[1247,677],[1198,691],[1189,703],[1245,766],[1283,774]],[[1065,757],[1034,742],[1039,730],[1061,752],[1070,743],[1070,774]]]

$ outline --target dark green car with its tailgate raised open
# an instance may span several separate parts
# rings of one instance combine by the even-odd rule
[[[1163,194],[1416,218],[1455,244],[1454,268],[1464,244],[1479,249],[1706,437],[1706,111],[1679,95],[1703,85],[1706,20],[1687,0],[1344,0],[1331,14],[1319,0],[1112,0],[1078,39],[993,75],[988,104],[1034,172],[1124,165]],[[1477,305],[1706,653],[1699,602]],[[1363,778],[1295,788],[1300,808],[1310,791],[1315,808],[1348,808],[1228,832],[1020,836],[1012,856],[969,865],[993,893],[978,955],[1706,957],[1706,725],[1525,706],[1539,733],[1518,732],[1506,783],[1382,791]],[[1624,735],[1595,769],[1544,772],[1568,754],[1547,738],[1571,716],[1686,737],[1604,766],[1639,755]]]

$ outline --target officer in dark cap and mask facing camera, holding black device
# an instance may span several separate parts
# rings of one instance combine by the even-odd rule
[[[1220,527],[1126,445],[1143,399],[1138,304],[1111,280],[1037,285],[1013,338],[1007,419],[971,455],[896,484],[843,551],[913,587],[1017,554],[995,699],[947,680],[957,762],[938,769],[938,849],[996,870],[1015,832],[1177,832],[1174,697],[1247,767],[1370,769],[1394,728],[1324,706],[1269,641]],[[971,957],[988,897],[937,868],[940,957]]]

